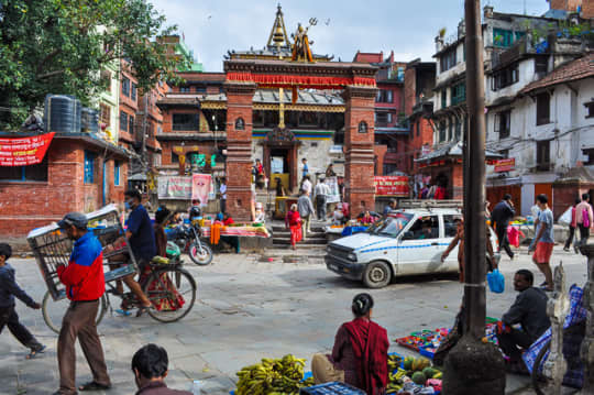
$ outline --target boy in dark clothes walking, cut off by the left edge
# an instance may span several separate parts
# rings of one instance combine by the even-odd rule
[[[45,345],[40,343],[33,334],[19,321],[19,316],[14,310],[14,297],[21,299],[26,306],[40,309],[41,305],[35,303],[14,279],[14,268],[7,262],[12,256],[12,248],[7,243],[0,244],[0,333],[4,326],[8,327],[12,336],[16,338],[31,352],[26,356],[32,359],[45,350]]]

